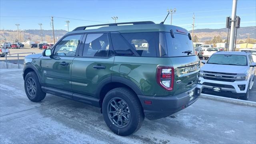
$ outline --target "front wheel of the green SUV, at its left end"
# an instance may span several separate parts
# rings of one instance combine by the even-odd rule
[[[28,99],[32,102],[40,102],[46,96],[35,72],[28,72],[24,80],[24,88]]]

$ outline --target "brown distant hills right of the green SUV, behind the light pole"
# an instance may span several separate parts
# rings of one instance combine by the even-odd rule
[[[189,31],[192,33],[192,30]],[[256,39],[256,26],[247,26],[240,27],[237,30],[236,39],[246,39],[250,34],[250,38]],[[220,29],[196,29],[194,30],[194,36],[198,36],[200,42],[204,42],[205,40],[211,40],[214,36],[220,35],[222,39],[227,39],[228,36],[228,28],[220,28]]]

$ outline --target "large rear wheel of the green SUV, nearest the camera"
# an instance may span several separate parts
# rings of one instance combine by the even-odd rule
[[[128,88],[110,90],[103,100],[102,113],[108,128],[120,136],[139,130],[145,118],[140,100]]]

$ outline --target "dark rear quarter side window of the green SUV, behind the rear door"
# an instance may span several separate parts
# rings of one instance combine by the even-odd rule
[[[116,56],[156,57],[159,32],[111,33]]]

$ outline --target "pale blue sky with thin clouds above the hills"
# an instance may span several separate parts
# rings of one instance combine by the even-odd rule
[[[74,0],[0,0],[0,29],[51,29],[51,16],[54,16],[54,29],[67,30],[65,20],[70,21],[70,30],[78,26],[114,22],[164,20],[166,9],[176,8],[172,24],[188,30],[192,29],[192,16],[195,14],[195,29],[224,28],[226,16],[231,16],[232,0],[165,0],[165,1],[74,1]],[[238,0],[237,15],[240,26],[256,26],[256,0]],[[170,24],[170,15],[165,24]]]

